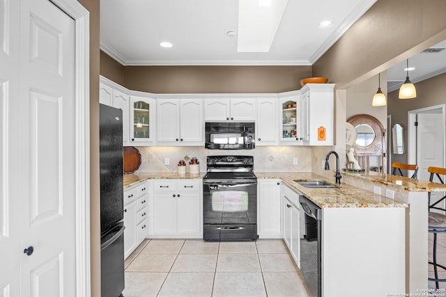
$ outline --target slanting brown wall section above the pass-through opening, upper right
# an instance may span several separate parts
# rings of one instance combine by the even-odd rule
[[[349,88],[446,39],[446,1],[378,0],[313,65]]]

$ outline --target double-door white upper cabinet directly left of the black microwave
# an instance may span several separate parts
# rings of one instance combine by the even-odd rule
[[[204,145],[202,99],[157,99],[159,145]]]

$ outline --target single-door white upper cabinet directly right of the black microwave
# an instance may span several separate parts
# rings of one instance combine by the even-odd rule
[[[257,100],[256,145],[277,145],[277,97]]]

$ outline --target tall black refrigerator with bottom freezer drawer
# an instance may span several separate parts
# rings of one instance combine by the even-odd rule
[[[123,111],[100,104],[101,296],[124,289]]]

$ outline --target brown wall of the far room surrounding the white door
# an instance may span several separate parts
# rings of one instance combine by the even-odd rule
[[[387,112],[392,115],[392,125],[399,123],[404,127],[404,147],[406,148],[404,154],[392,154],[392,162],[408,163],[408,111],[446,104],[446,73],[415,83],[415,88],[417,97],[414,99],[398,99],[399,90],[388,94]]]

